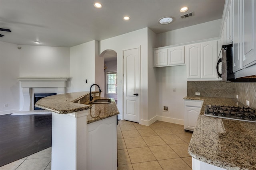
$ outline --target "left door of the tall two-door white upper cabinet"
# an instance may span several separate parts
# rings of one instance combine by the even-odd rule
[[[201,44],[186,45],[187,78],[201,78]]]

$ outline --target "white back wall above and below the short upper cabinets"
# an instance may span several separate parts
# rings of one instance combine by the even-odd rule
[[[157,47],[219,37],[220,25],[221,19],[158,34],[156,35]],[[154,69],[156,70],[159,104],[156,111],[157,119],[183,124],[183,98],[187,96],[186,66],[168,66]],[[176,92],[172,92],[173,88],[176,88]],[[169,112],[163,111],[163,106],[169,106]]]

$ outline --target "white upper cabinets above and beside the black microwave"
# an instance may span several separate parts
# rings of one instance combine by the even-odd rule
[[[256,74],[254,65],[256,64],[255,18],[255,0],[226,0],[221,43],[226,45],[233,42],[235,78]]]

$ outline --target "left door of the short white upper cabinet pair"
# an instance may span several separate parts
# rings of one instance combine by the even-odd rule
[[[168,49],[159,49],[154,51],[154,66],[168,65]]]

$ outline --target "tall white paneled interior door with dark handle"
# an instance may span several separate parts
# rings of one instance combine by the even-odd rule
[[[139,123],[140,48],[124,50],[124,120]]]

